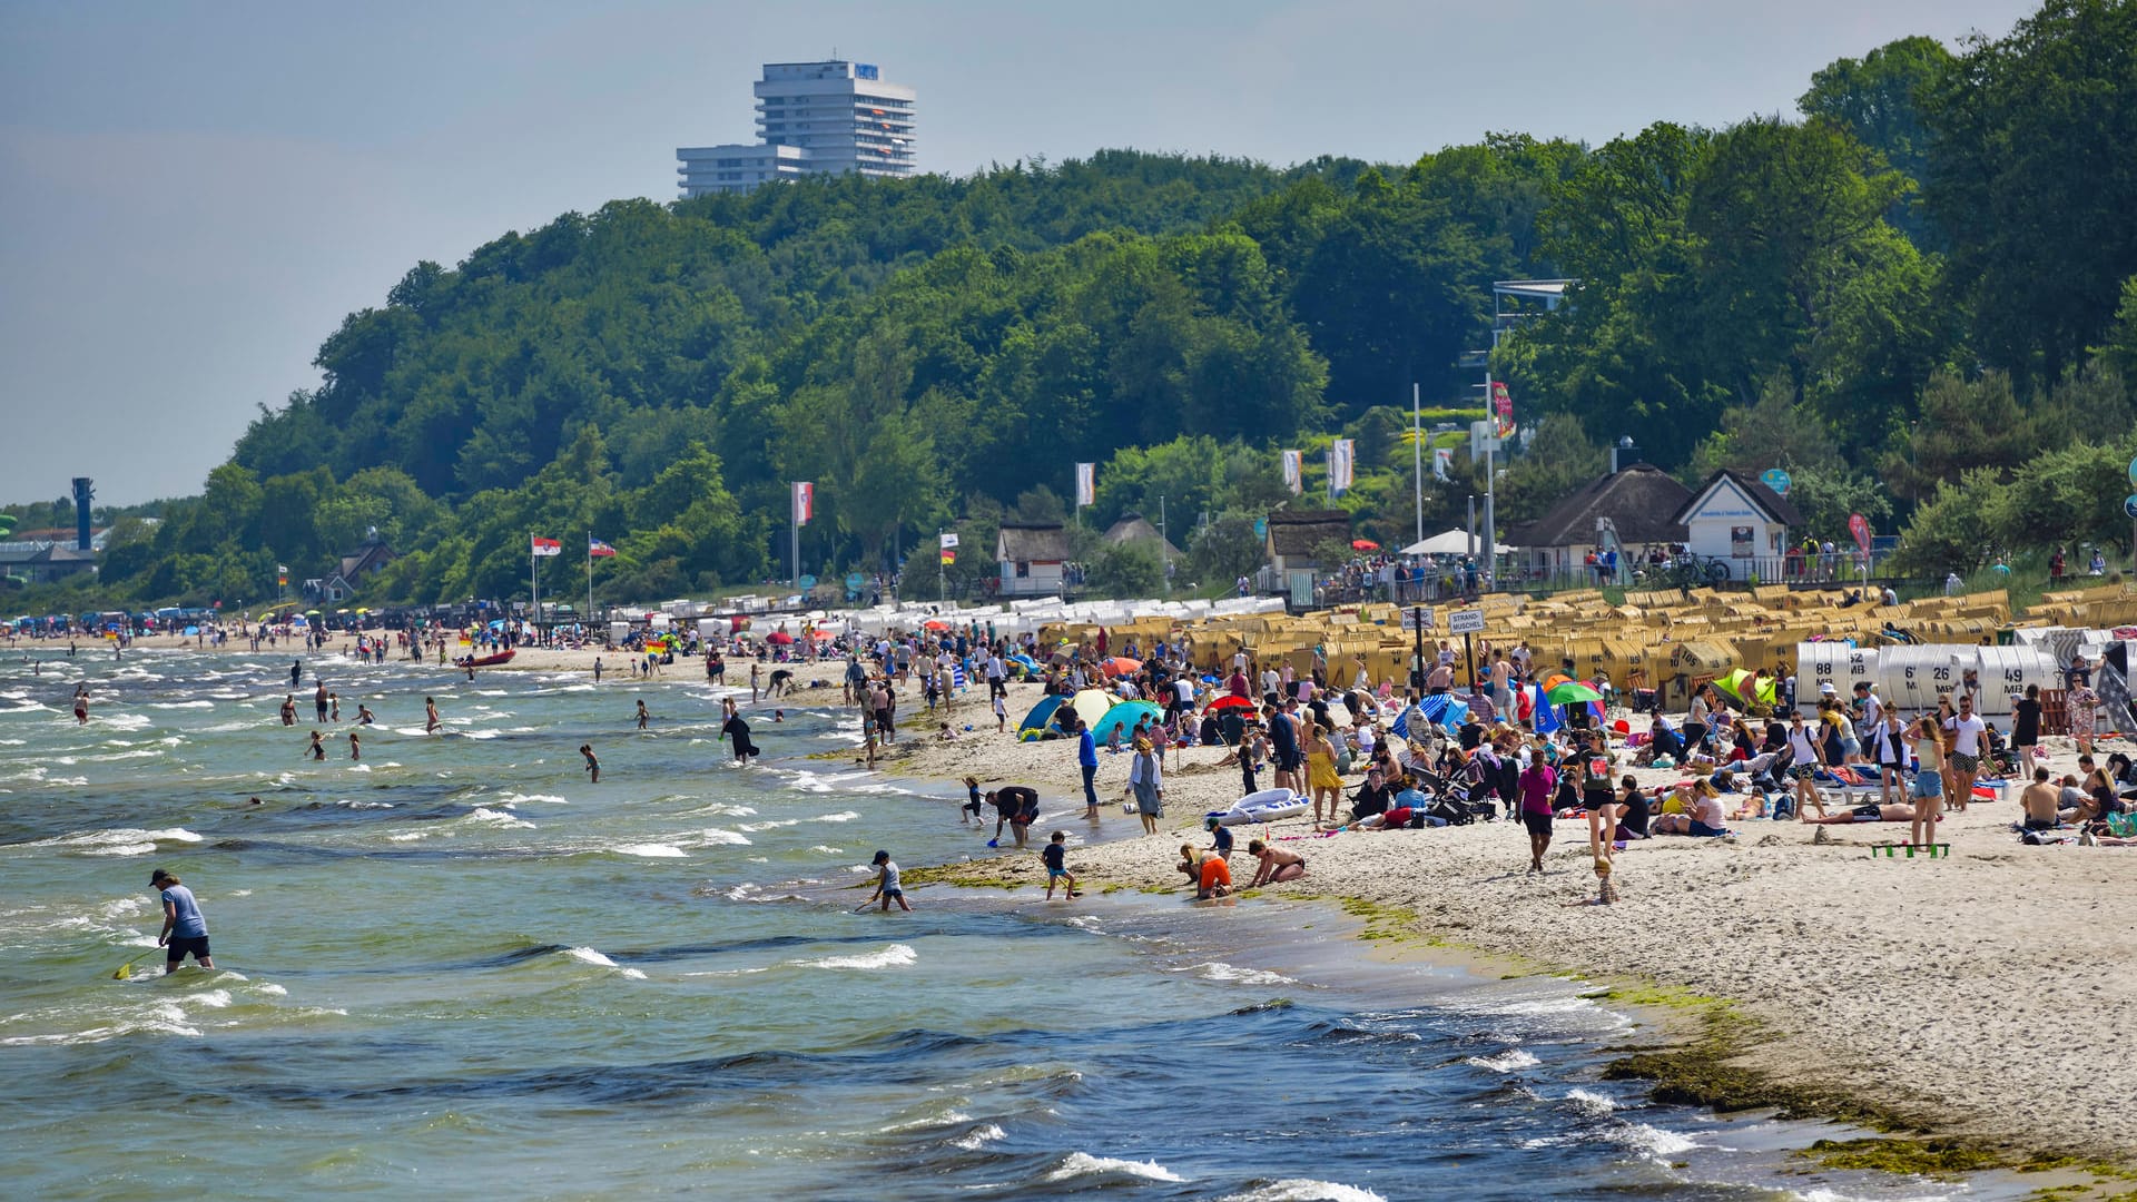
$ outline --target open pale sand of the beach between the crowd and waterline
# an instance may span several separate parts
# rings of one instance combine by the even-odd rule
[[[1015,689],[1011,725],[1032,699],[1036,689]],[[974,702],[957,725],[981,716]],[[2049,744],[2054,770],[2075,770],[2071,740]],[[1216,768],[1220,757],[1180,753],[1165,830],[1128,838],[1126,755],[1101,753],[1096,832],[1081,817],[1071,742],[1019,744],[987,721],[951,742],[908,738],[887,766],[1039,787],[1034,847],[981,847],[955,866],[960,879],[1043,885],[1036,843],[1068,830],[1096,838],[1071,853],[1086,888],[1175,890],[1177,847],[1207,845],[1201,815],[1237,796],[1237,770]],[[1641,785],[1682,779],[1635,774]],[[2009,830],[2015,813],[2005,800],[1949,815],[1949,860],[1872,858],[1872,843],[1904,843],[1904,823],[1761,819],[1733,823],[1731,841],[1658,836],[1616,856],[1620,900],[1609,907],[1581,905],[1596,896],[1588,828],[1564,819],[1541,879],[1524,873],[1526,836],[1504,821],[1333,836],[1314,836],[1306,819],[1235,828],[1233,873],[1242,883],[1252,873],[1248,838],[1284,841],[1306,856],[1308,877],[1272,890],[1363,903],[1421,941],[1507,958],[1507,971],[1725,999],[1740,1016],[1740,1067],[1936,1134],[2126,1164],[2137,1129],[2079,1116],[2122,1116],[2137,1099],[2137,1057],[2118,1018],[2137,1003],[2137,924],[2126,915],[2137,849],[2026,847]],[[1829,843],[1814,843],[1819,830]]]

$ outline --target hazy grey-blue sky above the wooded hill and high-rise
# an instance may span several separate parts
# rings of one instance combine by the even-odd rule
[[[1887,41],[2017,0],[0,4],[0,500],[201,490],[342,317],[419,259],[754,137],[763,62],[919,90],[919,163],[1103,148],[1410,163],[1793,113]]]

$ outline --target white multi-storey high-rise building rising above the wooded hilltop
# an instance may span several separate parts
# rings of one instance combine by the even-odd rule
[[[767,62],[756,81],[759,143],[680,148],[684,199],[748,192],[816,173],[902,178],[915,169],[917,92],[868,62]]]

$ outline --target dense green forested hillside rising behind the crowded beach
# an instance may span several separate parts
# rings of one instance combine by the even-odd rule
[[[1492,135],[1284,171],[1105,152],[564,214],[350,314],[325,383],[263,409],[152,533],[120,530],[100,588],[261,597],[276,563],[316,573],[376,526],[404,552],[378,599],[524,592],[528,533],[615,543],[613,597],[675,595],[784,575],[786,481],[816,481],[804,567],[865,569],[1058,513],[1077,460],[1101,464],[1088,518],[1163,496],[1173,541],[1210,518],[1190,550],[1220,573],[1286,498],[1276,451],[1331,436],[1359,449],[1342,505],[1402,541],[1410,385],[1477,406],[1455,364],[1489,342],[1492,280],[1558,276],[1573,304],[1494,355],[1534,430],[1502,520],[1633,436],[1686,475],[1789,466],[1823,533],[1940,513],[1943,558],[2111,537],[2090,494],[1949,535],[2041,456],[2109,488],[2137,426],[2137,4],[2054,0],[1806,88],[1797,120],[1601,148]],[[1434,520],[1470,473],[1457,456]]]

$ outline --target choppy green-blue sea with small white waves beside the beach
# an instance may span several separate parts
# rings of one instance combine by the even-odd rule
[[[859,770],[838,708],[750,708],[765,755],[737,766],[718,742],[733,691],[695,661],[643,682],[620,663],[596,687],[4,652],[6,1193],[2026,1193],[1825,1172],[1797,1151],[1829,1127],[1658,1106],[1601,1080],[1656,1035],[1598,990],[1372,956],[1321,903],[1086,881],[1073,903],[936,885],[912,913],[857,913],[876,849],[906,868],[987,853],[962,789]],[[312,721],[314,678],[340,723]],[[350,759],[359,702],[378,725]],[[1079,806],[1043,808],[1073,864]],[[199,896],[216,969],[162,975],[152,868]]]

